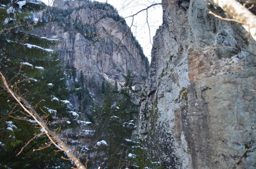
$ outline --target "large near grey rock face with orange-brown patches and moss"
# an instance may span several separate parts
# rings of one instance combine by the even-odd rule
[[[205,0],[163,3],[136,136],[166,168],[255,168],[256,42]]]

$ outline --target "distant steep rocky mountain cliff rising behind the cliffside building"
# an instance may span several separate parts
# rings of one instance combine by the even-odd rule
[[[129,27],[113,6],[96,1],[55,0],[42,15],[46,26],[37,34],[59,39],[60,58],[71,62],[77,73],[83,71],[88,80],[101,81],[114,77],[124,81],[128,70],[143,84],[149,63]],[[119,22],[117,22],[119,21]]]

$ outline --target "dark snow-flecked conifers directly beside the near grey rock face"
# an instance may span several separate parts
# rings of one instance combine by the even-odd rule
[[[131,138],[138,116],[138,106],[132,103],[136,93],[132,88],[135,82],[130,71],[124,77],[127,81],[120,93],[118,93],[117,83],[112,86],[108,82],[102,82],[103,102],[101,105],[96,105],[91,112],[94,125],[91,125],[90,129],[95,131],[91,141],[95,145],[104,140],[108,145],[89,147],[90,150],[87,153],[94,155],[90,160],[91,163],[88,164],[90,167],[97,166],[97,163],[103,163],[102,168],[125,167],[125,152],[130,145],[134,145],[126,139]]]

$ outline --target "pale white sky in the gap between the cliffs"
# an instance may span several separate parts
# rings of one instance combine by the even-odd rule
[[[52,2],[52,0],[42,0],[46,4]],[[127,17],[136,14],[147,6],[155,3],[161,3],[161,0],[97,0],[99,2],[108,2],[113,5],[120,16]],[[148,19],[146,19],[148,16]],[[131,26],[132,18],[125,19],[128,26]],[[148,20],[148,23],[146,22]],[[139,41],[145,55],[151,62],[151,49],[153,43],[153,36],[156,33],[156,29],[162,25],[162,7],[157,5],[148,9],[148,13],[143,11],[134,16],[133,26],[131,27],[132,33]],[[148,27],[149,25],[149,27]],[[150,33],[149,33],[150,28]]]

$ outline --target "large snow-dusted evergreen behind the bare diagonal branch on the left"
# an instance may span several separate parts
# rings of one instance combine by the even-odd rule
[[[58,53],[49,49],[58,40],[30,33],[41,25],[31,16],[46,7],[32,1],[0,2],[0,72],[12,91],[25,98],[55,132],[75,125],[67,79]],[[42,129],[20,107],[0,80],[0,168],[70,168]]]

